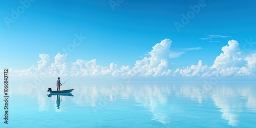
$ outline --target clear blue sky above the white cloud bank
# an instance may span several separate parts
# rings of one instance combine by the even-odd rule
[[[172,40],[166,55],[173,54],[169,57],[162,54],[156,56],[167,62],[163,64],[165,68],[161,72],[168,69],[174,72],[175,69],[198,65],[199,60],[209,68],[223,53],[222,47],[228,46],[229,40],[238,41],[242,50],[247,43],[246,39],[252,40],[251,42],[256,40],[255,1],[22,0],[3,1],[1,5],[0,68],[13,68],[17,70],[17,74],[22,70],[32,74],[38,72],[38,61],[41,60],[39,54],[47,54],[51,60],[48,65],[55,63],[53,65],[58,67],[56,75],[60,75],[62,69],[57,66],[54,57],[58,53],[65,54],[62,49],[71,48],[73,40],[77,38],[75,35],[86,39],[81,43],[78,41],[79,45],[72,47],[75,49],[64,57],[63,63],[68,63],[65,71],[69,70],[66,75],[70,75],[70,70],[75,67],[70,63],[78,59],[87,62],[95,59],[98,70],[110,68],[111,63],[117,65],[117,69],[130,66],[132,70],[136,60],[147,61],[144,57],[152,57],[149,52],[164,39]],[[190,16],[185,24],[182,24],[183,15],[186,18]],[[177,29],[175,23],[180,23],[183,27]],[[242,62],[243,66],[236,67],[248,68],[249,61],[246,57],[254,57],[255,49],[252,46],[250,50],[246,50],[246,56],[242,58],[245,61]],[[158,64],[161,59],[157,59]],[[254,62],[250,63],[253,66],[249,68],[253,68]],[[81,65],[83,64],[79,63]],[[33,66],[36,69],[29,71]],[[222,66],[230,67],[232,66]],[[154,66],[149,68],[153,69]],[[139,74],[143,74],[142,72],[144,71]]]

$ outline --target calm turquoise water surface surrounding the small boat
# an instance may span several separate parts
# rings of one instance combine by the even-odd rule
[[[49,96],[53,83],[12,82],[0,127],[254,127],[255,83],[79,81],[60,88],[73,96]]]

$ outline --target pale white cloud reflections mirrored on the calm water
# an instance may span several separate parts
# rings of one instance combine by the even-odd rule
[[[179,106],[181,105],[179,104],[180,98],[183,98],[187,104],[197,101],[199,106],[205,102],[214,102],[215,108],[218,108],[222,113],[219,117],[227,120],[230,126],[239,125],[242,112],[256,112],[256,93],[255,87],[252,86],[253,83],[241,82],[241,84],[233,85],[228,82],[220,82],[218,86],[212,87],[204,94],[201,93],[201,85],[203,85],[201,82],[131,82],[123,85],[123,89],[116,92],[114,89],[115,83],[82,83],[80,86],[67,86],[66,88],[74,88],[72,92],[74,97],[71,97],[71,100],[77,106],[99,106],[101,103],[101,111],[104,111],[104,107],[108,106],[109,103],[123,102],[129,99],[129,101],[133,101],[135,104],[137,103],[136,105],[151,112],[152,120],[163,124],[172,123],[173,119],[176,118],[173,117],[173,113],[185,111],[182,109],[186,106]],[[60,108],[57,109],[56,97],[49,98],[46,96],[47,88],[48,86],[38,87],[35,92],[30,93],[27,92],[26,88],[18,87],[17,92],[27,94],[30,97],[37,97],[39,111],[49,111],[52,107],[56,112],[71,109],[70,106],[67,106],[67,104],[70,104],[70,100],[66,101],[68,97],[65,96],[60,97]],[[177,108],[174,108],[174,99],[176,99],[175,105],[178,106]],[[102,103],[105,104],[102,106]],[[181,110],[179,111],[179,109]]]

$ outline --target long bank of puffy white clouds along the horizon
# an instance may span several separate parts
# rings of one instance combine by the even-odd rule
[[[109,67],[97,65],[96,59],[68,62],[66,54],[58,53],[54,61],[48,54],[39,54],[37,66],[29,69],[15,70],[10,68],[12,75],[18,76],[255,76],[256,71],[256,53],[248,53],[240,49],[239,42],[229,40],[228,45],[222,47],[222,53],[216,57],[211,66],[203,65],[199,60],[197,65],[191,65],[184,68],[168,69],[168,58],[179,57],[185,52],[170,51],[172,40],[164,39],[157,43],[153,49],[148,52],[149,56],[141,60],[136,60],[134,66],[117,66],[110,63]],[[199,50],[201,48],[189,48],[188,50]],[[185,60],[184,60],[185,61]]]

